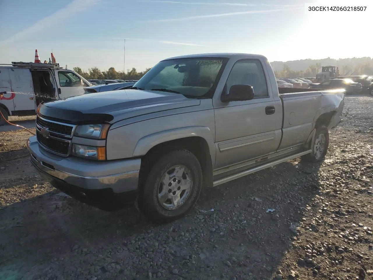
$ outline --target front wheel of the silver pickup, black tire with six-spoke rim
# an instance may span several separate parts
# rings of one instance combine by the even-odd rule
[[[137,202],[140,212],[148,220],[154,224],[170,223],[194,207],[202,188],[202,170],[193,153],[174,150],[147,171],[140,178]],[[179,199],[180,205],[175,199]]]

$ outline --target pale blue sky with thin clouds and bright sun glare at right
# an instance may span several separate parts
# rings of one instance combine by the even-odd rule
[[[85,71],[142,71],[193,53],[255,53],[269,61],[372,57],[370,1],[0,0],[0,63],[33,62],[35,49],[42,62],[53,50],[60,66]],[[351,5],[366,8],[307,10]]]

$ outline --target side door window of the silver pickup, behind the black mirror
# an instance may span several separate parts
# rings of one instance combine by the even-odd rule
[[[239,60],[233,65],[226,83],[228,92],[232,85],[240,84],[251,85],[257,98],[269,96],[263,66],[259,60]]]

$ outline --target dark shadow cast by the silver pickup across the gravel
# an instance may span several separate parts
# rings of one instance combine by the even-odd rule
[[[285,162],[206,188],[189,215],[160,226],[135,208],[104,212],[54,190],[0,209],[0,259],[10,267],[23,264],[21,275],[32,267],[61,275],[71,262],[93,262],[103,268],[99,274],[116,271],[106,258],[90,259],[94,254],[118,263],[122,269],[116,273],[123,277],[129,270],[141,277],[148,271],[169,277],[177,268],[184,279],[237,273],[269,279],[318,194],[319,168]],[[157,259],[164,266],[154,265]]]

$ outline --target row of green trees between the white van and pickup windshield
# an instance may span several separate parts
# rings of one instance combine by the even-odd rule
[[[116,71],[110,67],[107,71],[101,71],[97,67],[89,68],[88,72],[83,71],[80,67],[74,67],[73,70],[87,80],[139,80],[151,68],[137,72],[136,68],[127,69],[127,72]]]

